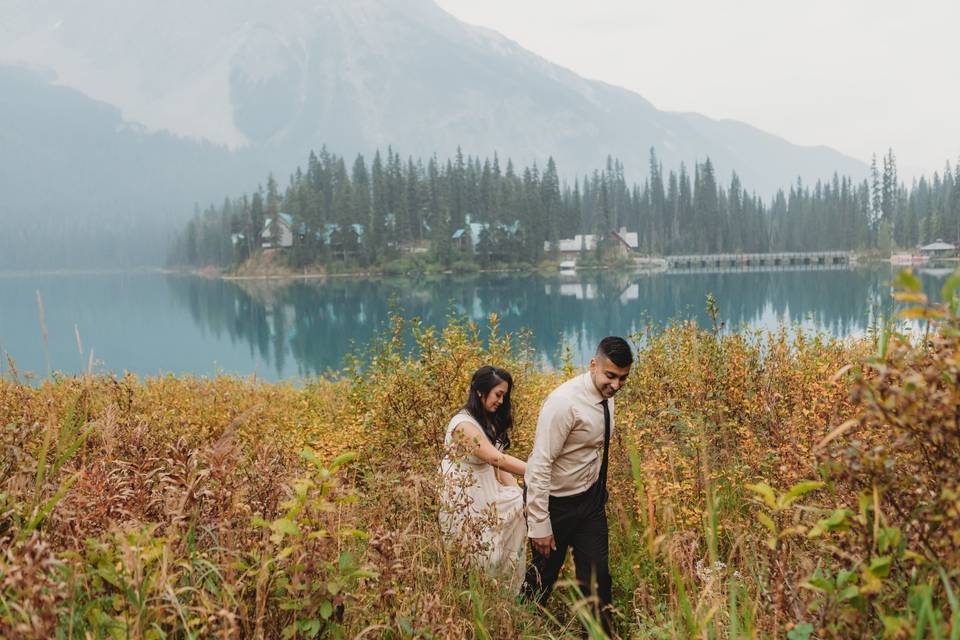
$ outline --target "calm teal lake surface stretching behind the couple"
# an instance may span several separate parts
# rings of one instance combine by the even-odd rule
[[[921,275],[930,291],[942,284],[939,274]],[[708,293],[728,327],[772,329],[784,321],[840,336],[862,333],[878,310],[889,313],[891,277],[885,266],[293,282],[162,274],[9,277],[0,278],[0,348],[20,369],[46,371],[39,290],[51,366],[66,372],[81,370],[93,348],[100,371],[312,376],[339,367],[354,345],[368,344],[394,310],[436,327],[451,313],[484,327],[496,313],[503,331],[532,332],[545,363],[559,363],[564,342],[583,363],[608,334],[676,318],[708,325]]]

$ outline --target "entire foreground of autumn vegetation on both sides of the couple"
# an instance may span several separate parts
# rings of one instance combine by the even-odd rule
[[[608,503],[622,637],[958,637],[960,273],[942,304],[896,285],[920,335],[727,332],[708,298],[712,327],[635,336]],[[513,373],[519,457],[574,372],[489,322],[394,317],[302,388],[11,366],[0,637],[579,637],[569,588],[538,611],[439,542],[473,370]]]

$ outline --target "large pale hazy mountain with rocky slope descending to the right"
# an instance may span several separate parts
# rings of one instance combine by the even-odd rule
[[[286,169],[310,148],[393,145],[446,156],[458,145],[520,163],[554,156],[568,176],[621,158],[646,171],[706,156],[764,195],[863,163],[749,125],[656,109],[586,80],[430,0],[0,0],[0,60],[59,81],[151,129],[262,149]],[[282,166],[287,165],[287,166]]]

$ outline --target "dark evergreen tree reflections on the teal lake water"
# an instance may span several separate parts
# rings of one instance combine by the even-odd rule
[[[179,277],[169,278],[168,285],[202,331],[246,343],[251,356],[272,362],[283,378],[339,367],[354,345],[368,344],[383,329],[393,311],[434,327],[455,313],[481,329],[496,313],[503,331],[529,329],[532,346],[554,366],[564,342],[584,363],[608,334],[674,319],[707,326],[708,293],[719,302],[728,328],[774,329],[785,321],[847,336],[866,331],[878,311],[889,315],[890,278],[887,268],[844,268],[235,282]]]

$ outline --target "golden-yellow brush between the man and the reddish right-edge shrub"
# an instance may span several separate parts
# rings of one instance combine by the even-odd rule
[[[812,560],[769,556],[747,486],[816,472],[814,445],[852,410],[833,374],[866,343],[716,321],[640,338],[611,467],[624,622],[639,637],[775,636],[797,619],[788,590]]]

